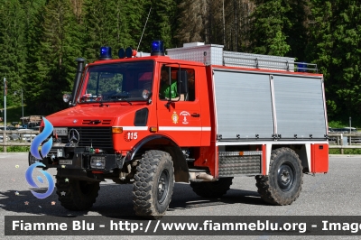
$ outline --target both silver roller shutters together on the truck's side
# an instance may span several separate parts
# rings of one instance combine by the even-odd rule
[[[214,69],[218,141],[326,140],[323,79]]]

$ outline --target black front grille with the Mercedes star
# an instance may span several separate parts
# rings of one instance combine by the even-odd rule
[[[79,132],[80,139],[78,144],[80,147],[113,148],[111,127],[68,127],[68,133],[71,129]],[[61,143],[69,143],[68,136],[61,136]]]

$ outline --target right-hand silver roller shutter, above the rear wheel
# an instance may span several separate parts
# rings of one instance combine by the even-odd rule
[[[325,138],[322,78],[273,75],[277,134],[282,138]]]

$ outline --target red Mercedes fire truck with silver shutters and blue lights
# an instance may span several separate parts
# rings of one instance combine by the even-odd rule
[[[194,42],[150,54],[131,48],[78,73],[69,108],[49,115],[61,205],[84,210],[99,182],[133,184],[136,215],[162,217],[175,182],[204,198],[226,194],[235,176],[255,176],[265,202],[289,205],[303,173],[329,171],[323,76],[293,58],[224,51]],[[29,163],[37,162],[29,154]]]

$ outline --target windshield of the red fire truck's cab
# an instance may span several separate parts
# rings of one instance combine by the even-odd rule
[[[117,62],[88,67],[79,102],[144,101],[153,83],[152,60]]]

